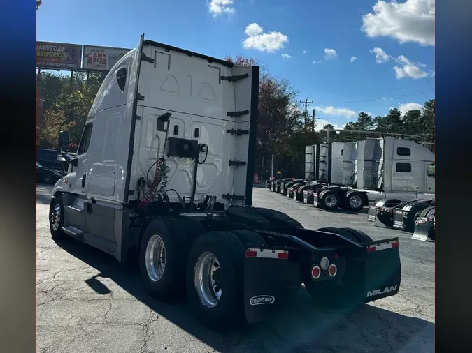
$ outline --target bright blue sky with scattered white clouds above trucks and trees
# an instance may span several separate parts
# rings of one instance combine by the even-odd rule
[[[43,0],[37,13],[38,40],[132,48],[145,33],[254,57],[312,100],[321,124],[434,98],[434,0]]]

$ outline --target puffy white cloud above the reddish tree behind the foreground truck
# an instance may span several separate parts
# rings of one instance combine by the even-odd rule
[[[264,33],[257,23],[248,24],[245,29],[248,38],[243,40],[245,49],[255,49],[261,52],[276,52],[284,47],[288,37],[280,32]]]

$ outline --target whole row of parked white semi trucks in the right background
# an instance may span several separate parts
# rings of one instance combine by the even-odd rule
[[[306,147],[304,178],[269,179],[266,188],[326,211],[361,211],[418,239],[434,239],[434,153],[393,137]]]

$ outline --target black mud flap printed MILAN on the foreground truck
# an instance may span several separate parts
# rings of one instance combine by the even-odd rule
[[[367,244],[364,263],[364,303],[399,292],[401,264],[398,238]]]

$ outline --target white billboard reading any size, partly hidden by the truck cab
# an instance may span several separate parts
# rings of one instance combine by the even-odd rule
[[[110,70],[131,49],[84,45],[83,70]]]

